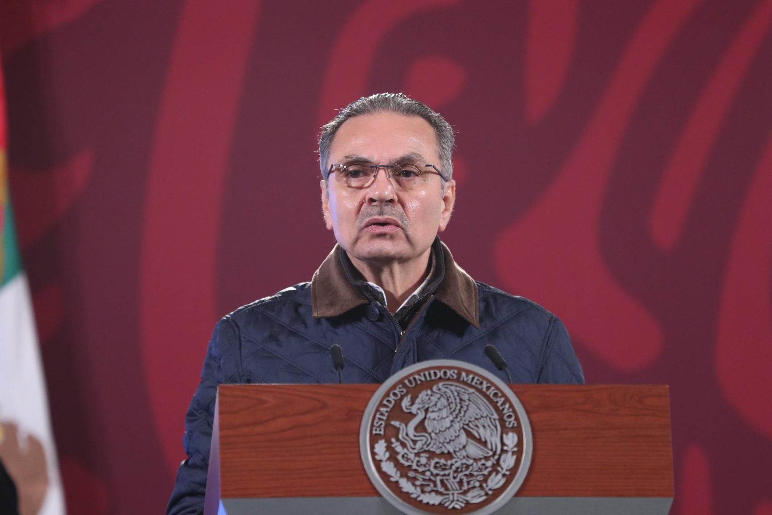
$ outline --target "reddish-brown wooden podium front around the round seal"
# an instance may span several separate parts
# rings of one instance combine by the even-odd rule
[[[360,458],[361,418],[378,386],[220,386],[206,515],[400,513]],[[669,513],[667,386],[511,388],[530,419],[533,459],[496,513]]]

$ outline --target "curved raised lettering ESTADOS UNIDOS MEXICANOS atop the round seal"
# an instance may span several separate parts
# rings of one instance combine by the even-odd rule
[[[485,379],[482,379],[479,376],[466,371],[460,372],[462,382],[468,385],[472,385],[478,390],[484,392],[486,395],[488,395],[491,401],[493,401],[493,404],[499,407],[502,412],[504,424],[506,427],[513,428],[517,426],[517,415],[515,414],[510,403],[507,401],[506,395],[504,395],[501,391],[499,391],[498,388],[496,388]],[[414,388],[415,385],[420,385],[426,381],[438,381],[439,379],[458,380],[458,378],[459,370],[453,368],[426,370],[422,371],[420,374],[411,375],[409,378],[406,378],[405,381],[402,381],[399,385],[388,392],[388,396],[384,398],[383,401],[381,401],[381,405],[379,405],[376,409],[372,425],[372,434],[384,434],[388,414],[391,412],[391,408],[394,407],[394,404],[396,404],[398,400],[400,400],[405,394],[408,393],[407,388]]]

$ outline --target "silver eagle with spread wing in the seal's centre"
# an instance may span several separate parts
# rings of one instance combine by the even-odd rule
[[[408,395],[402,409],[415,415],[407,425],[392,421],[410,452],[449,453],[457,459],[482,459],[501,450],[499,415],[478,391],[458,383],[442,382]],[[423,422],[426,432],[418,432]],[[473,438],[472,438],[473,437]]]

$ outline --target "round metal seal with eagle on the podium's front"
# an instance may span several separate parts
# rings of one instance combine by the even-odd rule
[[[525,480],[533,443],[523,405],[483,368],[422,361],[388,378],[362,418],[364,469],[398,510],[486,515]]]

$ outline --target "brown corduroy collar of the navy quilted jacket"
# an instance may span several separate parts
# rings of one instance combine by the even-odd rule
[[[448,247],[442,242],[440,246],[445,261],[445,277],[434,293],[435,298],[479,329],[477,284],[455,264]],[[311,303],[315,318],[337,317],[369,302],[348,279],[340,264],[340,252],[344,251],[336,245],[311,278]]]

